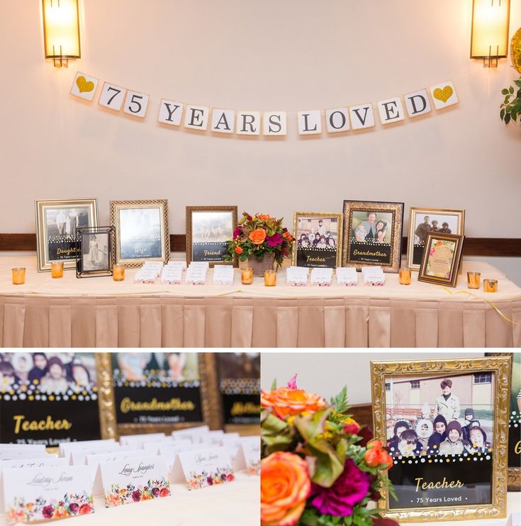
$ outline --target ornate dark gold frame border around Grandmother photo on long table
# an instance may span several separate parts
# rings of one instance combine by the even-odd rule
[[[385,203],[381,201],[349,201],[344,200],[344,232],[342,242],[342,267],[382,267],[383,272],[398,272],[402,257],[403,203]],[[383,212],[393,214],[393,230],[391,233],[391,263],[352,262],[349,259],[351,248],[352,212]]]

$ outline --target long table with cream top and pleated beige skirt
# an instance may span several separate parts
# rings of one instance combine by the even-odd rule
[[[26,284],[11,283],[26,267]],[[35,257],[0,257],[4,347],[521,347],[521,289],[484,262],[465,262],[498,293],[417,281],[384,286],[135,284],[110,277],[62,279],[36,272]],[[333,279],[335,282],[335,279]]]

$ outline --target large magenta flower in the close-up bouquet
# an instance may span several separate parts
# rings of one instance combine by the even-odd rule
[[[322,515],[348,517],[353,508],[369,491],[369,475],[361,471],[352,459],[347,459],[344,471],[330,488],[318,484],[311,485],[311,505]]]

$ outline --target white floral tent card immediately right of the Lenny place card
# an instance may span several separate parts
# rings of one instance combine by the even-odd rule
[[[233,481],[235,476],[226,448],[212,447],[179,452],[172,469],[172,481],[183,479],[190,490]]]

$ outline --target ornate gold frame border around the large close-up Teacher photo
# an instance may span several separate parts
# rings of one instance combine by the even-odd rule
[[[491,476],[491,504],[478,507],[444,506],[389,510],[389,494],[385,490],[379,500],[383,515],[397,522],[430,522],[465,520],[472,518],[504,518],[507,511],[507,435],[510,400],[511,357],[484,357],[439,360],[413,360],[408,362],[371,362],[371,388],[374,436],[386,442],[386,376],[446,373],[447,375],[491,372],[495,376],[494,399],[494,454]]]

